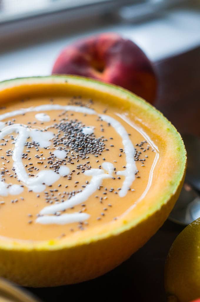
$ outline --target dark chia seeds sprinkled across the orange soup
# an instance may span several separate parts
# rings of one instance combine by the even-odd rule
[[[76,100],[73,102],[76,102],[76,101],[80,102],[80,99],[76,98]],[[81,104],[83,104],[83,103],[81,103]],[[89,106],[86,106],[86,107],[89,107]],[[71,115],[73,115],[73,114],[71,114]],[[56,184],[58,189],[50,189],[49,187],[52,187],[52,185],[49,185],[49,186],[47,186],[48,191],[42,192],[40,194],[36,194],[36,196],[38,198],[41,195],[41,198],[40,198],[41,201],[42,201],[42,199],[44,199],[44,201],[49,204],[52,204],[52,203],[59,204],[61,202],[64,202],[64,201],[66,201],[66,199],[70,199],[71,197],[73,197],[76,193],[81,192],[82,188],[86,188],[86,186],[87,186],[87,184],[89,184],[89,182],[86,181],[86,184],[82,185],[81,182],[79,181],[80,180],[79,177],[77,177],[76,175],[81,175],[80,172],[84,173],[85,171],[92,169],[93,167],[91,165],[93,162],[102,163],[102,160],[105,161],[106,159],[104,157],[102,158],[102,154],[104,151],[109,151],[107,146],[109,146],[109,143],[111,143],[111,141],[107,140],[106,137],[104,137],[104,136],[96,137],[94,133],[92,133],[91,135],[88,135],[88,134],[85,135],[82,131],[82,128],[85,127],[85,124],[83,124],[82,122],[79,122],[77,119],[70,120],[69,116],[70,116],[70,113],[66,113],[66,111],[63,111],[61,114],[59,114],[59,117],[61,117],[61,118],[58,118],[57,122],[54,125],[47,127],[47,129],[55,128],[58,130],[58,134],[55,134],[55,136],[52,139],[53,147],[50,147],[50,144],[49,144],[49,146],[44,148],[45,151],[43,154],[42,148],[40,149],[38,143],[28,141],[25,144],[27,150],[24,149],[24,150],[26,150],[24,152],[27,152],[27,153],[23,153],[21,155],[21,157],[24,161],[24,166],[27,168],[26,169],[27,173],[28,172],[35,173],[35,171],[39,170],[39,168],[37,166],[42,168],[42,166],[41,166],[42,164],[44,164],[43,166],[45,168],[48,167],[48,169],[52,169],[52,171],[54,171],[55,173],[59,173],[59,169],[60,169],[61,165],[69,165],[69,167],[71,167],[70,164],[74,165],[73,166],[74,170],[71,170],[71,172],[68,175],[64,175],[64,177],[67,177],[67,178],[65,178],[65,180],[68,181],[68,180],[72,179],[72,184],[71,184],[72,186],[71,186],[71,188],[69,188],[69,191],[61,192],[61,190],[59,189],[61,186],[62,186],[62,188],[64,188],[64,186],[65,186],[65,188],[68,187],[68,185],[65,185],[61,182],[62,185],[58,184],[58,183]],[[101,121],[101,118],[99,117],[98,120]],[[56,119],[54,119],[54,121],[56,121]],[[7,123],[9,124],[9,122],[7,122]],[[101,122],[101,123],[103,123],[103,122]],[[30,124],[30,122],[28,122],[28,124]],[[101,124],[100,128],[98,128],[98,131],[101,130],[102,132],[106,133],[106,131],[105,131],[106,128],[104,129],[104,126],[105,126],[104,124]],[[108,123],[108,126],[110,126],[109,123]],[[30,126],[27,126],[27,127],[30,127]],[[41,130],[41,131],[47,131],[47,129]],[[102,134],[104,134],[104,133],[102,133]],[[130,135],[130,133],[129,133],[129,135]],[[31,138],[29,138],[29,139],[31,139]],[[109,139],[113,140],[113,137],[110,137]],[[15,137],[13,138],[13,140],[15,142]],[[4,140],[2,142],[2,146],[4,146],[4,143],[7,141],[8,140]],[[113,141],[113,143],[114,144],[110,144],[110,147],[115,146],[117,148],[115,141]],[[145,143],[147,143],[147,142],[142,141],[141,143],[136,144],[136,146],[138,146],[138,147],[137,147],[137,149],[135,148],[135,151],[133,152],[134,160],[136,162],[139,161],[140,164],[142,164],[142,166],[145,166],[145,164],[146,164],[145,159],[148,158],[148,155],[144,156],[142,151],[148,153],[147,150],[150,148],[150,146],[145,145]],[[33,148],[35,153],[37,151],[36,155],[30,153],[31,148]],[[0,149],[2,149],[2,148],[0,148]],[[66,152],[66,157],[64,157],[64,159],[57,158],[53,153],[55,149],[64,150]],[[152,149],[152,151],[154,151],[154,149]],[[118,152],[120,152],[119,157],[121,157],[123,155],[123,153],[125,153],[123,148],[119,148]],[[6,153],[3,155],[12,156],[12,153],[13,153],[12,150],[7,150]],[[47,153],[48,153],[48,155],[47,155]],[[143,156],[145,158],[142,158],[143,156],[141,154],[143,154]],[[104,154],[103,154],[103,156],[104,156]],[[4,165],[6,165],[6,162],[9,163],[9,160],[7,161],[7,157],[4,157],[4,156],[2,156],[2,157],[3,158],[1,158],[1,159],[4,159],[4,162],[3,162]],[[31,158],[34,158],[34,163],[37,162],[38,165],[36,165],[36,167],[33,166],[33,163],[30,163]],[[96,159],[96,158],[98,158],[98,159]],[[33,161],[33,159],[32,159],[32,161]],[[108,159],[108,161],[112,161],[112,160]],[[26,162],[28,164],[26,164]],[[114,160],[113,162],[117,163],[117,160]],[[118,160],[118,162],[119,162],[119,160]],[[144,162],[145,162],[145,164],[144,164]],[[45,165],[45,163],[46,163],[46,165]],[[90,165],[90,163],[91,163],[91,165]],[[147,161],[147,163],[148,163],[148,161]],[[122,161],[122,164],[123,164],[123,161]],[[96,166],[98,166],[99,169],[102,168],[101,165],[96,165]],[[116,165],[116,168],[118,170],[118,168],[119,168],[118,165]],[[116,168],[114,168],[113,174],[117,173]],[[125,169],[126,166],[123,166],[123,168]],[[78,170],[78,172],[77,172],[77,170]],[[14,172],[12,172],[13,175],[10,174],[9,177],[14,177],[14,178],[16,178],[16,180],[20,181],[19,179],[17,179],[17,174],[15,172],[15,169],[13,169],[13,171],[14,171]],[[1,170],[1,174],[6,175],[5,172],[9,172],[9,170],[7,170],[6,166],[3,168],[3,170]],[[135,175],[137,175],[138,172],[139,172],[139,170],[136,170]],[[37,177],[37,174],[29,173],[28,175],[32,176],[32,177]],[[116,176],[116,178],[119,180],[121,179],[121,177],[118,175],[114,175],[114,176]],[[116,178],[112,177],[112,179],[114,179],[114,180]],[[137,175],[136,178],[140,178],[140,176]],[[78,181],[77,181],[77,179],[78,179]],[[118,184],[118,186],[122,185],[121,182],[116,182],[116,184]],[[75,188],[75,187],[77,187],[77,188]],[[72,191],[70,191],[70,189]],[[104,188],[104,186],[100,185],[98,187],[98,190],[100,190],[100,191],[99,191],[98,195],[95,195],[95,198],[98,198],[97,201],[101,203],[101,210],[102,209],[103,209],[103,211],[110,210],[108,207],[112,207],[112,204],[110,204],[110,203],[107,204],[109,201],[109,194],[110,193],[118,194],[119,191],[121,190],[121,188],[117,188],[117,186],[115,186],[115,189],[110,188],[110,187]],[[131,188],[128,188],[128,190],[135,191],[134,189],[131,189]],[[32,190],[29,190],[29,191],[32,191]],[[58,193],[55,193],[55,192],[58,192]],[[100,194],[100,193],[102,193],[102,194]],[[33,193],[33,194],[35,194],[35,193]],[[45,195],[43,195],[43,194],[45,194]],[[102,197],[101,195],[104,197]],[[108,201],[106,199],[108,199]],[[23,200],[23,198],[21,198],[21,200]],[[18,200],[15,199],[15,200],[12,200],[11,202],[15,203],[17,201]],[[39,200],[38,200],[38,202],[39,202]],[[100,206],[98,204],[98,202],[97,202],[97,207]],[[3,203],[4,203],[3,201],[2,202],[0,201],[0,204],[3,204]],[[86,205],[87,204],[81,204],[81,210],[79,211],[80,213],[82,213],[82,212],[84,212],[84,210],[86,210]],[[96,218],[97,220],[103,219],[102,216],[105,215],[104,212],[101,213],[101,210],[99,211],[99,214],[98,214],[100,217],[97,217]],[[59,216],[62,214],[62,212],[64,212],[64,211],[56,212],[55,215]],[[28,216],[32,217],[33,215],[28,214]],[[113,219],[116,220],[117,217],[114,217]],[[30,222],[28,222],[28,223],[32,223],[32,220],[30,220]],[[84,229],[83,226],[87,225],[87,224],[88,224],[87,222],[79,223],[77,227],[80,230],[83,230]],[[74,229],[70,229],[70,231],[73,231],[73,230]],[[65,234],[63,236],[65,236]]]

